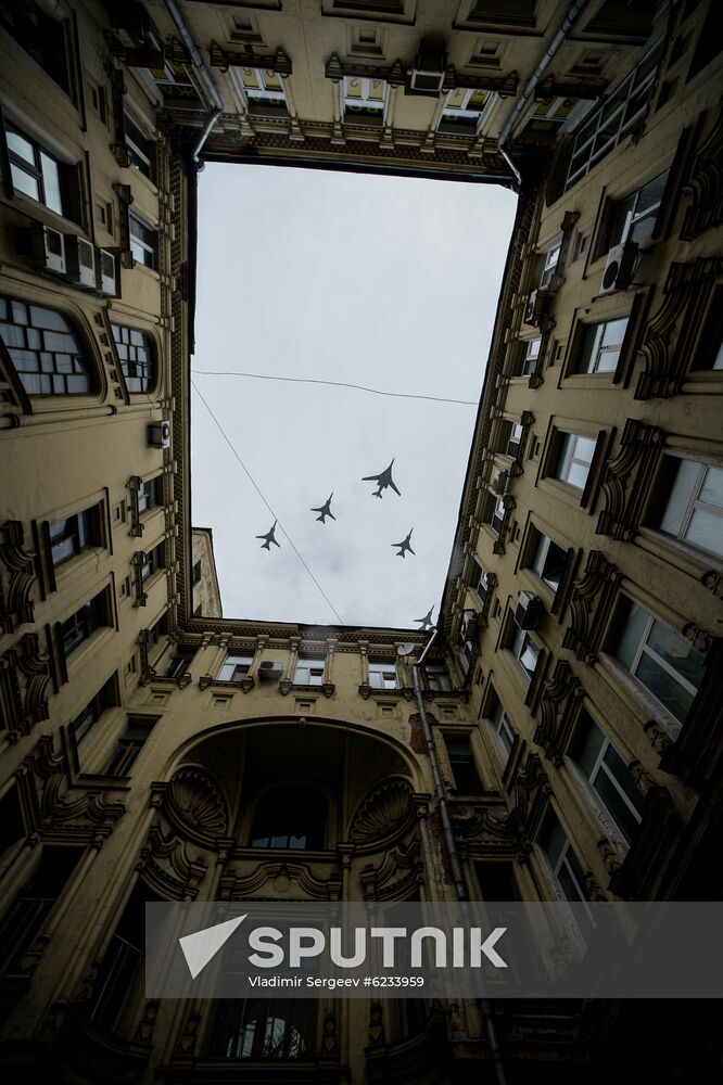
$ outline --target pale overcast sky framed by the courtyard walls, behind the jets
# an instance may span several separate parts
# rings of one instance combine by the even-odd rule
[[[225,617],[437,616],[516,203],[487,184],[200,174],[192,523],[213,529]],[[402,496],[375,499],[362,478],[392,459]],[[262,549],[275,520],[280,548]]]

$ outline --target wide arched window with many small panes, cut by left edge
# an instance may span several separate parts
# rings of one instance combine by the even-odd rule
[[[56,309],[0,297],[0,340],[28,395],[84,395],[92,391],[80,337]]]

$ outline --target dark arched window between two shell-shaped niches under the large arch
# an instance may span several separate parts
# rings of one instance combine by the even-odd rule
[[[256,804],[252,847],[316,852],[325,846],[327,803],[310,788],[274,788]]]

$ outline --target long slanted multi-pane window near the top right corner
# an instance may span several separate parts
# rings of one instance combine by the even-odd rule
[[[566,191],[643,124],[661,55],[662,40],[580,126],[570,155]]]

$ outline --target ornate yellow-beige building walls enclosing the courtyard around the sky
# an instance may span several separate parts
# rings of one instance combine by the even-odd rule
[[[715,1067],[705,1008],[661,1052],[647,1007],[497,1005],[491,1031],[474,1003],[142,984],[145,901],[454,899],[434,764],[470,898],[720,897],[712,11],[3,10],[12,1072],[431,1085],[495,1080],[493,1033],[511,1081]],[[519,188],[421,703],[429,634],[220,616],[190,521],[203,158]]]

